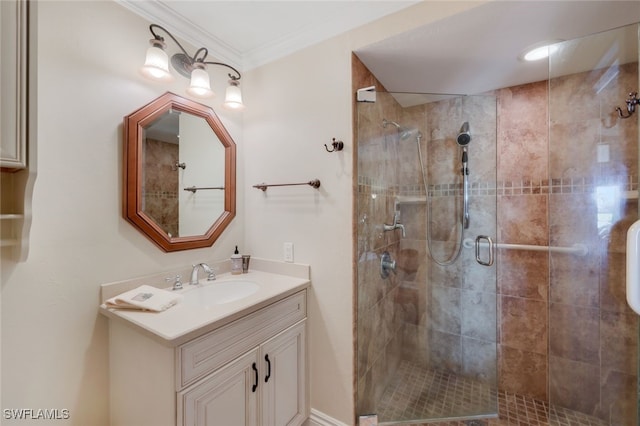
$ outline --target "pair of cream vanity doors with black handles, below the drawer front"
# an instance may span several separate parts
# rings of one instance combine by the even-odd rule
[[[179,394],[182,425],[300,425],[306,417],[303,320]]]

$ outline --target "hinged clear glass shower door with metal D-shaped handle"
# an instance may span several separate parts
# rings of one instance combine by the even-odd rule
[[[381,424],[495,416],[496,266],[472,247],[496,235],[496,99],[378,92],[357,115],[357,413]]]

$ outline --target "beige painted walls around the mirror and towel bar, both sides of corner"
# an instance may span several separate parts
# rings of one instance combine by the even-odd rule
[[[66,408],[57,424],[108,424],[99,285],[223,259],[235,244],[281,259],[291,241],[296,262],[312,266],[311,405],[351,424],[351,51],[471,4],[420,3],[247,72],[243,114],[207,102],[238,144],[239,214],[214,247],[165,254],[121,217],[122,119],[166,90],[182,94],[186,80],[139,76],[149,23],[117,3],[39,2],[38,178],[29,257],[2,262],[2,408]],[[214,75],[217,93],[225,75]],[[325,152],[333,137],[343,153]],[[312,178],[318,191],[251,188]]]

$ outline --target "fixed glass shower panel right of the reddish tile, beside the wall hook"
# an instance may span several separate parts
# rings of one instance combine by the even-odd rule
[[[638,26],[558,44],[550,57],[549,402],[588,424],[637,424],[638,316],[625,298],[625,238],[638,219]],[[554,419],[550,419],[554,420]],[[560,421],[561,419],[558,419]],[[587,424],[587,423],[581,423]]]

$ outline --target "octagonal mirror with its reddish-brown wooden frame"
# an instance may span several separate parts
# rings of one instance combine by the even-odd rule
[[[236,214],[236,144],[167,92],[124,118],[123,215],[162,250],[210,247]]]

